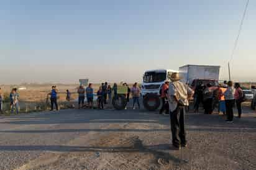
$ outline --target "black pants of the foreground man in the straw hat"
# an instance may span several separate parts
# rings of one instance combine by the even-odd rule
[[[172,142],[175,146],[179,146],[180,144],[186,144],[184,121],[185,107],[178,106],[173,112],[170,112]]]

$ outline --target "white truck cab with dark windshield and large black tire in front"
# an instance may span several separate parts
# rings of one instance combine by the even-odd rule
[[[141,86],[141,95],[145,109],[157,110],[160,107],[160,89],[172,73],[178,73],[178,71],[171,69],[152,69],[145,71]]]

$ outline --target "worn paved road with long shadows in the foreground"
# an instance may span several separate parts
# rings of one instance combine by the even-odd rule
[[[0,117],[0,169],[256,169],[256,119],[187,114],[188,148],[169,149],[168,115],[61,110]]]

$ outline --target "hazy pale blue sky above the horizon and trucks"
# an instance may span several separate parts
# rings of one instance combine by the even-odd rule
[[[227,61],[246,0],[0,2],[0,84],[141,81],[145,69]],[[232,78],[256,81],[251,0]]]

